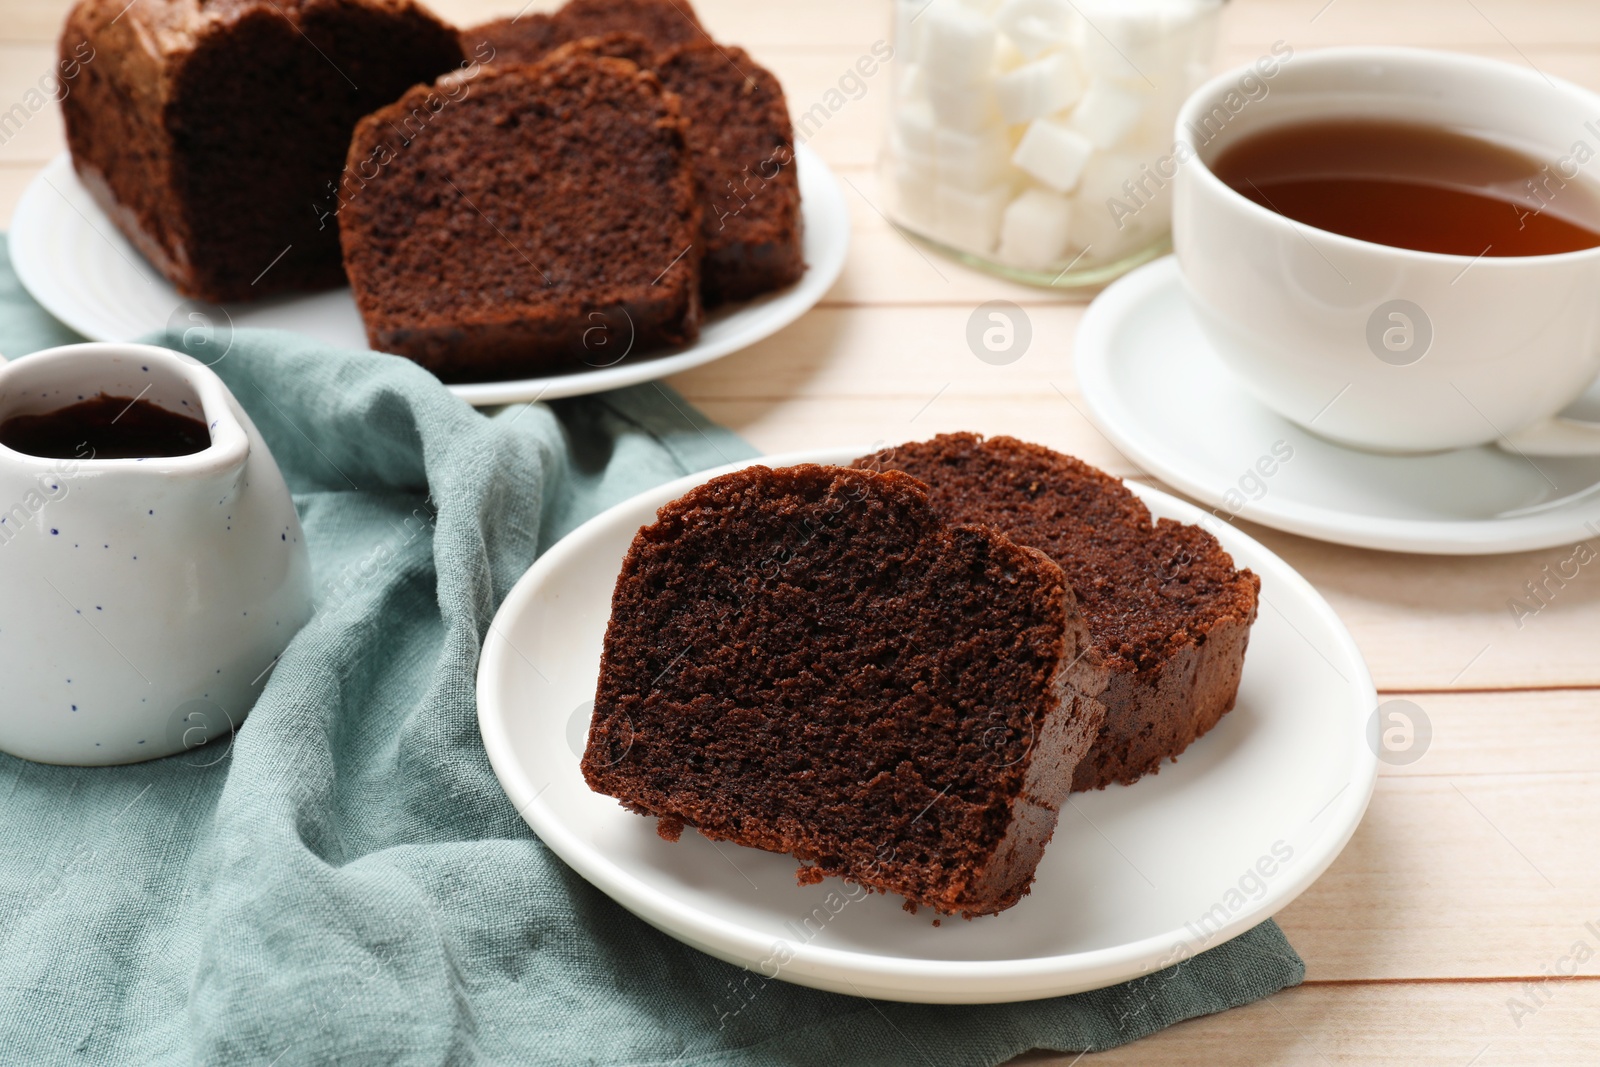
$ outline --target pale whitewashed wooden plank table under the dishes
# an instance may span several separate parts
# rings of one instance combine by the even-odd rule
[[[438,6],[469,24],[522,5]],[[888,35],[886,0],[698,6],[718,38],[779,75],[797,115]],[[0,0],[0,112],[50,70],[66,10]],[[1219,66],[1277,40],[1296,51],[1451,48],[1600,90],[1595,0],[1237,0]],[[840,282],[782,334],[674,384],[766,451],[1005,432],[1133,475],[1080,414],[1070,357],[1082,304],[925,259],[872,206],[888,82],[886,70],[869,78],[810,139],[848,182],[856,237]],[[61,123],[46,107],[0,134],[8,221],[61,150]],[[1008,366],[976,360],[965,341],[971,310],[995,298],[1021,304],[1034,325],[1032,347]],[[1462,560],[1251,533],[1344,616],[1379,689],[1427,712],[1432,747],[1384,768],[1355,840],[1278,917],[1306,958],[1304,985],[1085,1064],[1600,1064],[1600,568],[1584,568],[1518,627],[1507,601],[1571,547]],[[1528,985],[1579,941],[1594,955],[1574,977]],[[1531,1011],[1514,1014],[1512,998]]]

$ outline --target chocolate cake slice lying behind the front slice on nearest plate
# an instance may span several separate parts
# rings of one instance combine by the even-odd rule
[[[1075,790],[1155,773],[1234,707],[1261,579],[1206,531],[1152,523],[1117,478],[1011,437],[944,434],[856,466],[904,470],[946,522],[987,523],[1061,565],[1110,678]]]

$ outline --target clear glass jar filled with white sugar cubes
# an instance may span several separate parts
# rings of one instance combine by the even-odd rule
[[[1170,248],[1222,0],[894,0],[880,157],[902,230],[1018,282],[1090,288]]]

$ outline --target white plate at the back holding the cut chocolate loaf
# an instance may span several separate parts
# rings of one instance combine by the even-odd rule
[[[669,355],[624,358],[616,366],[456,384],[450,390],[475,405],[557,400],[621,389],[710,363],[778,333],[808,312],[845,267],[850,211],[832,171],[816,152],[797,146],[800,205],[805,214],[806,272],[787,290],[720,307],[706,317],[699,341]],[[11,221],[11,264],[29,294],[90,341],[133,341],[194,307],[141,256],[78,181],[62,154],[29,184]],[[277,296],[224,306],[235,328],[294,330],[342,349],[365,349],[366,330],[350,290]]]

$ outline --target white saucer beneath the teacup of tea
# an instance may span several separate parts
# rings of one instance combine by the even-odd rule
[[[1094,299],[1078,326],[1077,378],[1090,418],[1128,459],[1224,518],[1440,555],[1574,544],[1600,523],[1600,458],[1494,446],[1386,456],[1269,411],[1200,333],[1170,256]],[[1600,387],[1566,413],[1600,418]]]

